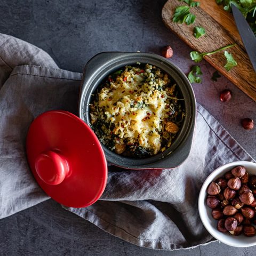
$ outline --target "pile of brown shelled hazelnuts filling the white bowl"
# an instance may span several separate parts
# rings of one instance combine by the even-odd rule
[[[249,175],[244,166],[236,166],[211,182],[207,194],[206,204],[212,209],[213,219],[218,220],[220,232],[256,234],[256,175]]]

